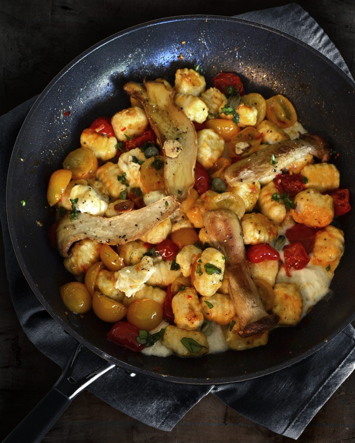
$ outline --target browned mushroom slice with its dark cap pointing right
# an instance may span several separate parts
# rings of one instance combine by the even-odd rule
[[[227,167],[224,178],[229,185],[248,183],[279,173],[296,160],[311,153],[322,162],[329,160],[330,149],[319,136],[304,134],[299,140],[271,144]]]

